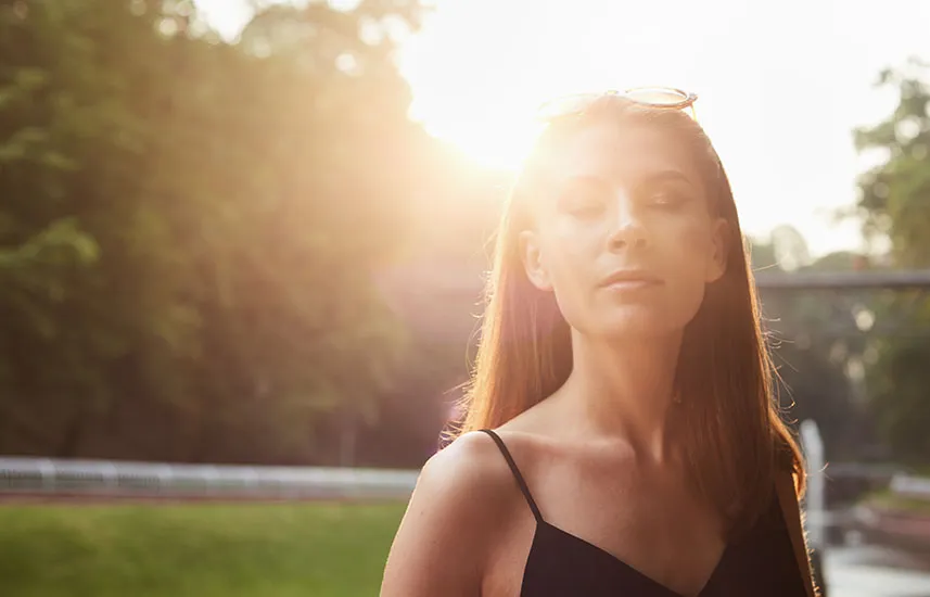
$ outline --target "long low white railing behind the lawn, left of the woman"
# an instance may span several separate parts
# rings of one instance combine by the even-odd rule
[[[0,495],[406,499],[418,471],[0,457]]]

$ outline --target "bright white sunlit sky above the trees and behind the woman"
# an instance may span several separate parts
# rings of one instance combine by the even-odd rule
[[[340,0],[343,4],[351,0]],[[893,90],[879,72],[930,60],[926,0],[433,0],[398,66],[411,117],[472,158],[514,168],[533,111],[550,98],[664,85],[699,96],[697,116],[727,168],[743,230],[797,227],[812,253],[856,249],[856,199],[875,163],[856,126],[882,119]],[[239,0],[196,0],[227,36]]]

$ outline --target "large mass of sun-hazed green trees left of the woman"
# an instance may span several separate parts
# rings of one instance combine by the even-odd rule
[[[0,450],[306,460],[374,411],[429,149],[383,31],[418,20],[279,7],[227,45],[187,1],[0,3]]]

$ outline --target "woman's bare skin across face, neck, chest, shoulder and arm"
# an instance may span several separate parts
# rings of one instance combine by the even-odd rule
[[[684,150],[653,131],[591,127],[557,157],[553,191],[521,242],[528,279],[556,294],[572,326],[574,369],[497,431],[548,523],[696,596],[726,545],[719,515],[685,483],[672,381],[704,284],[724,272],[725,223]],[[660,282],[601,285],[625,268]],[[810,577],[793,481],[784,477],[779,499]],[[424,467],[381,595],[519,596],[535,526],[491,437],[468,433]]]

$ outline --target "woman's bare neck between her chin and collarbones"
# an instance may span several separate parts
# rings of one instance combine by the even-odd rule
[[[572,331],[574,367],[563,390],[588,433],[628,443],[655,461],[668,457],[668,411],[681,335],[628,341]]]

